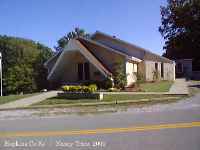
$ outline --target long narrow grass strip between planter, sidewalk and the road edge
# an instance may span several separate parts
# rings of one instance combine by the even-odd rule
[[[88,104],[88,103],[99,103],[99,102],[123,102],[123,101],[139,101],[139,100],[144,100],[144,99],[162,99],[162,98],[167,98],[169,95],[144,95],[144,94],[138,94],[138,95],[133,95],[133,94],[105,94],[104,99],[99,101],[95,99],[77,99],[77,100],[72,100],[72,99],[61,99],[59,97],[53,97],[46,99],[44,101],[41,101],[39,103],[33,104],[33,106],[39,106],[39,105],[58,105],[58,104]],[[172,97],[172,96],[171,96]]]

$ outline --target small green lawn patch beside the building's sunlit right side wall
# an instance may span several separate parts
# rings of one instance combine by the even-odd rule
[[[142,83],[140,87],[145,92],[168,92],[172,84],[172,81],[149,82]]]

